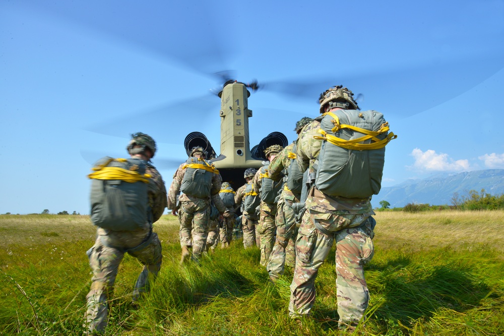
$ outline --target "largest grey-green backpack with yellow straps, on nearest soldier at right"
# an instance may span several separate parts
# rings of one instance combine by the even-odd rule
[[[366,198],[380,191],[385,146],[397,136],[376,111],[335,110],[321,120],[317,188],[332,196]]]

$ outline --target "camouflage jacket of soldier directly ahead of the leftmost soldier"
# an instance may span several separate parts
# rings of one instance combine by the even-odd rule
[[[185,166],[185,162],[182,163],[175,174],[173,174],[173,181],[171,182],[170,189],[168,191],[168,209],[176,209],[177,206],[177,195],[180,193],[180,187],[182,186],[182,180],[184,178],[184,174],[186,169],[183,168]],[[223,213],[226,211],[226,207],[224,206],[224,203],[222,203],[222,199],[219,196],[219,191],[221,189],[222,185],[222,177],[220,174],[213,174],[212,175],[212,187],[210,189],[210,197],[208,197],[208,201],[212,201],[214,206],[219,210],[219,212]],[[191,196],[191,195],[186,195],[186,194],[181,194],[179,197],[179,201],[194,201],[194,200],[200,200],[201,198]]]

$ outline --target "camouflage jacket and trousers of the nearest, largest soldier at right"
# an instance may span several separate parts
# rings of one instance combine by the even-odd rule
[[[317,159],[322,142],[313,139],[318,135],[320,121],[306,125],[297,142],[297,163],[301,170],[310,168]],[[363,265],[373,256],[372,231],[374,225],[370,197],[351,199],[330,197],[312,187],[306,200],[296,240],[296,267],[290,286],[289,315],[308,315],[315,302],[314,282],[317,272],[333,242],[336,241],[336,291],[340,327],[355,324],[364,314],[369,293],[364,279]],[[318,221],[327,231],[319,231],[313,221]]]

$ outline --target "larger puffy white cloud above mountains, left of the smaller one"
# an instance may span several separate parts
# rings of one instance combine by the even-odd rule
[[[433,150],[422,152],[415,148],[411,155],[415,158],[415,163],[411,168],[424,171],[467,171],[469,170],[468,160],[454,161],[449,158],[448,154],[437,154]]]

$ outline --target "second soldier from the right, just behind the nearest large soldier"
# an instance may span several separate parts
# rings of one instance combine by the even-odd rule
[[[299,134],[301,129],[311,122],[313,119],[304,117],[301,118],[298,122],[296,122],[294,131]],[[297,227],[295,221],[294,210],[292,210],[293,203],[299,203],[299,199],[301,196],[301,186],[302,180],[298,181],[296,188],[292,187],[292,190],[289,189],[287,180],[295,178],[296,174],[288,174],[288,171],[291,169],[297,169],[299,172],[299,168],[295,161],[295,141],[292,142],[289,146],[285,147],[280,154],[275,157],[269,167],[268,174],[272,180],[278,181],[284,174],[287,175],[287,178],[284,178],[283,189],[280,194],[280,199],[277,203],[277,214],[275,216],[275,224],[277,226],[277,234],[275,245],[273,246],[273,251],[271,252],[270,259],[266,269],[270,275],[270,280],[272,282],[276,281],[280,275],[284,273],[284,265],[286,263],[286,249],[289,243],[295,240],[297,235]],[[290,165],[293,165],[290,167]],[[282,174],[284,172],[284,174]],[[297,174],[302,178],[303,172]],[[289,183],[292,185],[292,183]],[[293,244],[291,245],[293,246]],[[291,258],[289,261],[293,265],[295,263],[295,253],[289,255]]]

